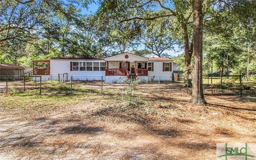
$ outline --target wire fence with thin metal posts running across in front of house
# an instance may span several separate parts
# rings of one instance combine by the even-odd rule
[[[63,89],[63,92],[59,91],[55,94],[74,94],[78,92],[78,89],[86,87],[87,89],[96,89],[99,93],[104,93],[108,89],[130,91],[131,95],[134,94],[134,86],[137,85],[136,93],[149,92],[153,94],[169,94],[174,92],[191,93],[191,88],[184,85],[184,82],[172,81],[172,76],[138,76],[120,79],[122,84],[117,82],[106,83],[105,76],[67,76],[67,74],[50,75],[50,76],[1,76],[0,92],[8,94],[12,91],[12,88],[19,91],[31,91],[39,94],[50,94],[54,90],[53,87],[59,87]],[[232,77],[232,78],[231,78]],[[183,78],[183,77],[182,77]],[[225,79],[226,78],[226,79]],[[136,80],[137,79],[137,80]],[[140,79],[140,80],[138,80]],[[236,87],[227,87],[226,81],[236,81]],[[212,82],[212,83],[211,83]],[[223,77],[220,81],[220,77],[204,77],[204,92],[206,93],[218,93],[219,91],[232,90],[242,93],[244,90],[242,76],[229,76]],[[214,92],[213,92],[214,91]],[[11,92],[10,92],[11,93]]]

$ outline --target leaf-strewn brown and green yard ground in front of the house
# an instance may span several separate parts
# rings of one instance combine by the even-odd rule
[[[56,84],[0,97],[0,159],[215,159],[216,144],[256,143],[255,92],[192,105],[182,84]],[[189,89],[191,93],[191,89]]]

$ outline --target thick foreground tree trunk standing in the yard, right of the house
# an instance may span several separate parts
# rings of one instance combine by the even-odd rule
[[[194,30],[193,30],[193,90],[190,102],[205,104],[203,92],[203,1],[193,0]]]

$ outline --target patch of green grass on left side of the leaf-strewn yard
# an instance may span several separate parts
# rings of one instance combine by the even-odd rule
[[[22,110],[22,111],[43,111],[61,106],[75,105],[81,101],[94,101],[97,99],[113,98],[111,93],[114,90],[91,89],[83,85],[73,87],[73,94],[68,84],[42,87],[42,95],[39,95],[39,87],[23,92],[15,87],[10,90],[9,95],[2,95],[0,100],[1,109]]]

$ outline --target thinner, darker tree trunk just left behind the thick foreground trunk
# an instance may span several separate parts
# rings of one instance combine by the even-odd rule
[[[188,40],[188,30],[187,30],[187,25],[184,24],[182,27],[182,34],[183,34],[183,42],[184,42],[184,58],[185,58],[185,71],[184,71],[184,80],[185,80],[185,85],[187,86],[188,82],[188,74],[190,74],[190,63],[191,63],[191,55],[189,52],[189,40]],[[190,86],[191,84],[189,84]]]

